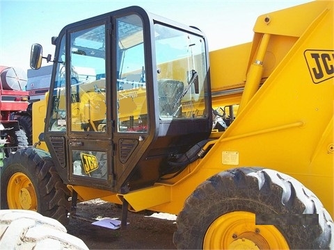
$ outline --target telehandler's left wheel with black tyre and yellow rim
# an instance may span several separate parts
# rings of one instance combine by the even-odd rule
[[[33,210],[67,224],[67,194],[49,153],[27,147],[3,160],[1,209]]]

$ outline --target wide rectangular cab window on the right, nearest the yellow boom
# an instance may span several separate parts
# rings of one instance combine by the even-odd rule
[[[154,24],[161,120],[202,119],[207,59],[201,37]]]

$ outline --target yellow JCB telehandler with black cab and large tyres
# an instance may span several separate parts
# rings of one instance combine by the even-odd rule
[[[210,53],[198,28],[138,6],[65,26],[1,208],[65,224],[100,198],[122,225],[177,215],[179,249],[334,249],[333,19],[333,1],[267,13],[253,42]]]

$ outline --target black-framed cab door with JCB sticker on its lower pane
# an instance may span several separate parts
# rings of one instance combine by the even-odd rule
[[[67,101],[70,181],[111,185],[112,143],[109,20],[70,29],[70,88]]]

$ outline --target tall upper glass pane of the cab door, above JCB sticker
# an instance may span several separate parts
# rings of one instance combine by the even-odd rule
[[[106,131],[106,25],[70,34],[71,131]]]

